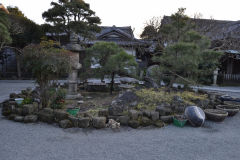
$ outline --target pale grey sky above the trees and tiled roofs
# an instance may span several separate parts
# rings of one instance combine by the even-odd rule
[[[5,6],[17,6],[31,20],[42,24],[42,12],[52,0],[0,0]],[[56,0],[54,0],[56,1]],[[187,8],[187,15],[201,13],[202,18],[240,20],[240,0],[85,0],[102,19],[102,25],[132,26],[139,37],[144,23],[152,17],[175,13]]]

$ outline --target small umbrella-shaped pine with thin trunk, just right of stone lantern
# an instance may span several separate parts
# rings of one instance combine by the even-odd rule
[[[88,49],[88,58],[85,67],[90,68],[91,65],[99,64],[95,70],[100,77],[111,75],[110,92],[112,94],[114,77],[116,74],[131,74],[136,61],[134,56],[128,55],[122,48],[112,42],[98,42]]]

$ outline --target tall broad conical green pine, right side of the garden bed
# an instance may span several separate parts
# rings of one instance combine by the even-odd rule
[[[210,75],[219,65],[222,53],[210,50],[210,40],[191,30],[194,27],[184,11],[179,9],[171,16],[171,23],[162,28],[167,31],[162,30],[168,45],[154,61],[160,63],[160,73],[171,75],[169,85],[177,78],[186,84],[211,82]]]

